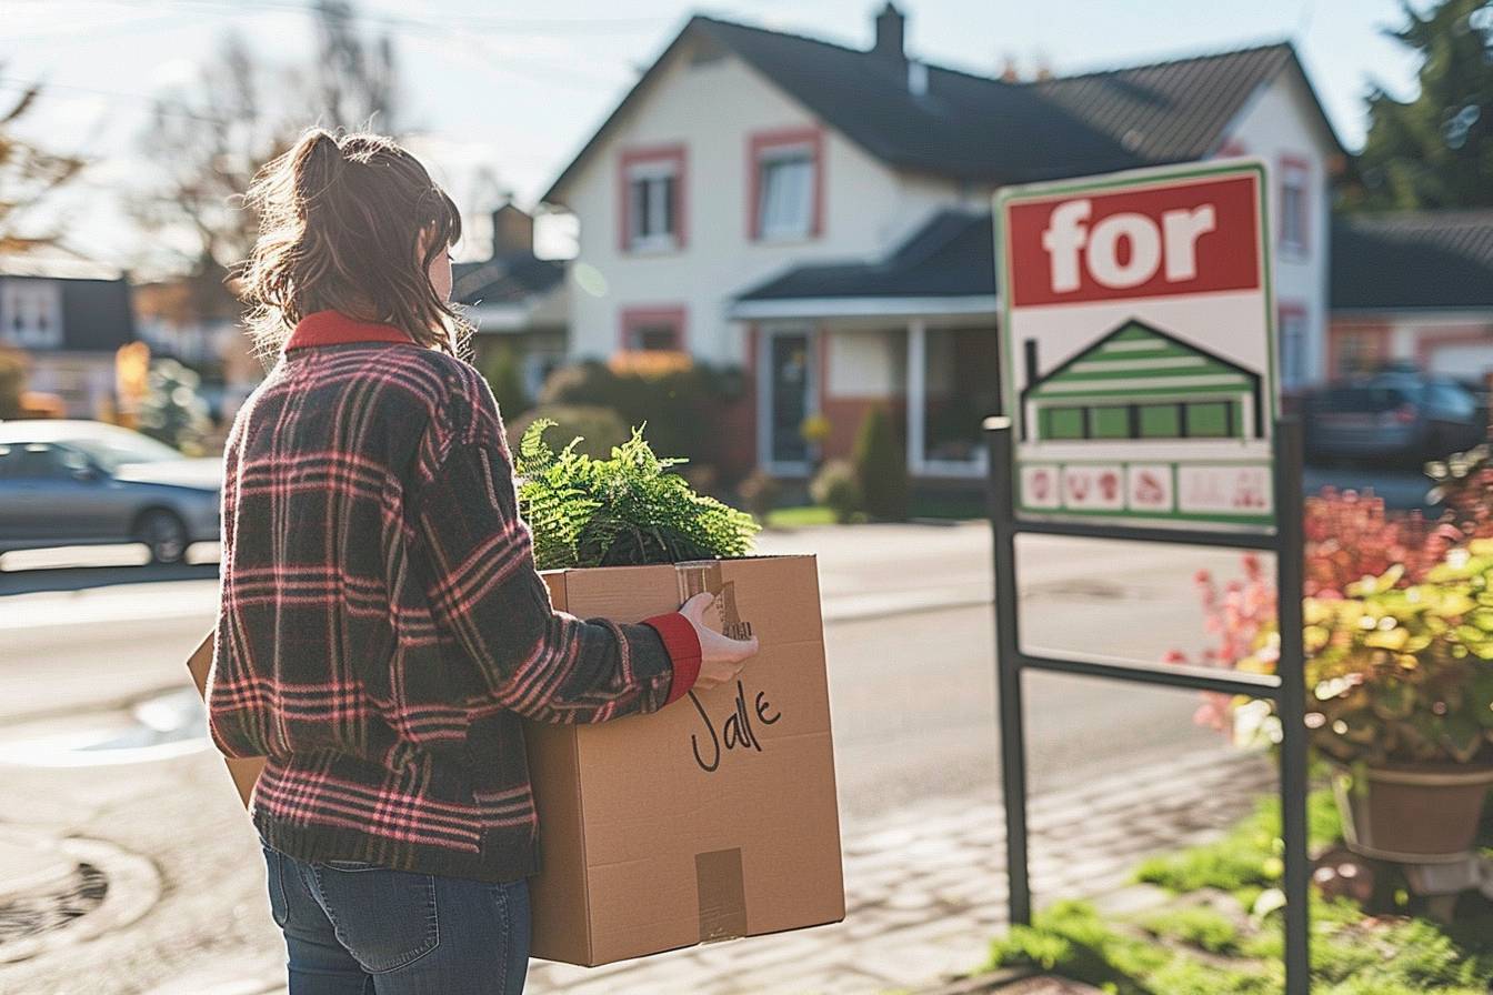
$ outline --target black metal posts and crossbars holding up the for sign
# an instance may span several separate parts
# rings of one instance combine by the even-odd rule
[[[1308,888],[1311,864],[1306,844],[1306,725],[1305,653],[1302,646],[1302,433],[1294,421],[1274,425],[1274,534],[1212,531],[1206,528],[1111,525],[1062,519],[1018,519],[1011,467],[1015,453],[1008,418],[985,422],[990,445],[990,521],[994,528],[996,662],[1000,692],[1000,761],[1006,809],[1006,873],[1012,923],[1032,922],[1032,885],[1027,871],[1026,732],[1021,674],[1047,670],[1153,686],[1217,691],[1269,698],[1281,721],[1280,744],[1281,834],[1285,844],[1285,995],[1306,995]],[[1015,537],[1021,533],[1132,542],[1176,543],[1271,552],[1280,591],[1281,656],[1277,673],[1235,674],[1202,667],[1151,668],[1099,659],[1029,653],[1018,630]]]

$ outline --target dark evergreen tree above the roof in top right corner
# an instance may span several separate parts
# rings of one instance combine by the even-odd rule
[[[1369,94],[1359,158],[1366,209],[1493,206],[1493,3],[1441,0],[1387,34],[1420,54],[1420,92],[1399,101]]]

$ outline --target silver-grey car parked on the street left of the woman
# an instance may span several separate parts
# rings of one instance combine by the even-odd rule
[[[87,421],[0,422],[0,553],[145,543],[178,562],[218,539],[222,467]]]

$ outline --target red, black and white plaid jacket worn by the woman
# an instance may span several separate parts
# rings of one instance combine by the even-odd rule
[[[284,853],[533,874],[520,722],[654,712],[694,683],[682,616],[551,607],[491,391],[396,328],[309,315],[224,464],[209,729],[266,756],[254,822]]]

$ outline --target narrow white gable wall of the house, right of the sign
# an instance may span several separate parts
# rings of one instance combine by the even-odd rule
[[[1275,298],[1299,304],[1306,312],[1305,382],[1326,374],[1327,360],[1327,264],[1329,264],[1329,157],[1336,151],[1317,121],[1312,97],[1294,72],[1284,70],[1248,104],[1229,133],[1224,151],[1242,149],[1265,160],[1271,170],[1271,239],[1275,243]],[[1309,167],[1309,219],[1305,258],[1284,257],[1280,249],[1281,178],[1284,158]],[[1288,385],[1300,386],[1300,385]]]

